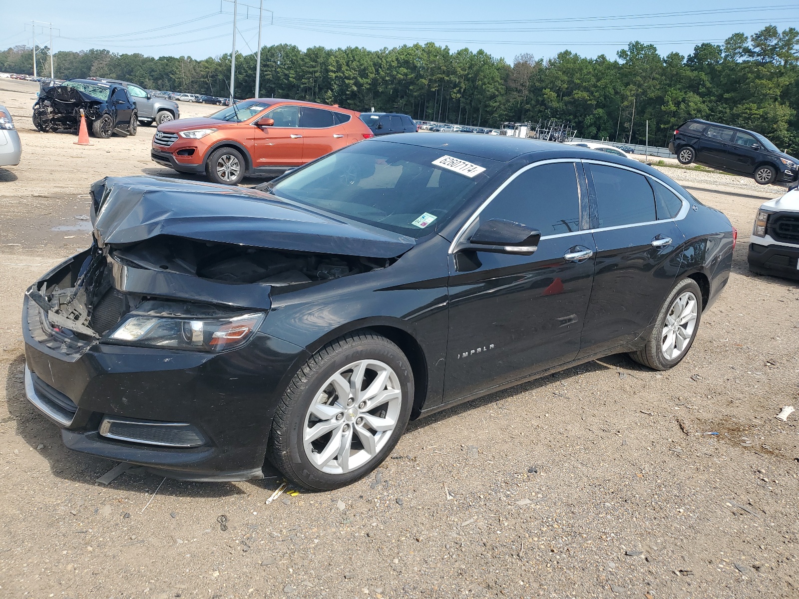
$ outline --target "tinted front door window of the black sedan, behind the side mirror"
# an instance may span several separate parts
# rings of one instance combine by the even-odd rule
[[[573,162],[533,167],[512,180],[480,213],[537,228],[543,236],[579,231],[580,194]]]

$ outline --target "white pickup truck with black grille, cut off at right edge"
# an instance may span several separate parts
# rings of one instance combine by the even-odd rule
[[[751,272],[799,279],[799,188],[757,209],[746,259]]]

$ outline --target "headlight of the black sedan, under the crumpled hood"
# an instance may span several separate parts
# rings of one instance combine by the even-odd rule
[[[137,347],[225,351],[247,343],[263,321],[264,312],[210,316],[135,311],[109,331],[104,341]]]

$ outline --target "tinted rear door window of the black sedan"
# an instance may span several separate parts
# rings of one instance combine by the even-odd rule
[[[599,228],[657,220],[654,192],[646,177],[612,166],[590,165]]]

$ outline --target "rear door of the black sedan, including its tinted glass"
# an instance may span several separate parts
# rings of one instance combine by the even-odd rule
[[[581,356],[641,335],[674,285],[685,240],[674,220],[682,200],[658,181],[596,163],[586,164],[586,175],[595,197],[591,224],[597,256]]]

